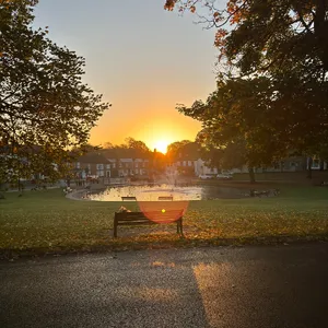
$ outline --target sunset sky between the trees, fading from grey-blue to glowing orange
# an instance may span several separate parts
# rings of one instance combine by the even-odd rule
[[[165,0],[39,0],[35,25],[86,59],[84,81],[113,106],[90,142],[194,140],[200,124],[179,114],[215,87],[214,31],[164,11]]]

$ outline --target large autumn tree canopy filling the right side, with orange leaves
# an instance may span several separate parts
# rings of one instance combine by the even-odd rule
[[[292,150],[324,153],[328,1],[230,0],[225,8],[218,3],[166,1],[165,9],[189,10],[208,28],[216,28],[214,44],[222,63],[218,89],[207,102],[178,109],[202,121],[209,148],[227,152],[234,144],[248,165],[268,165]]]

